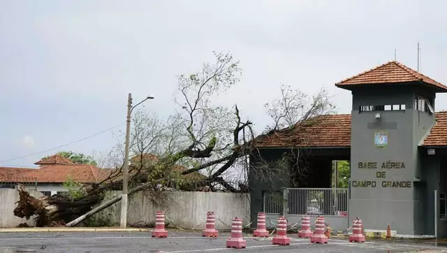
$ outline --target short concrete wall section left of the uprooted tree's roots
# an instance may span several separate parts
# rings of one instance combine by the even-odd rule
[[[34,190],[29,190],[29,194],[35,198],[43,196],[40,191]],[[0,189],[0,227],[10,228],[21,223],[27,223],[29,226],[35,225],[32,217],[27,221],[27,219],[14,216],[15,202],[18,200],[19,192],[16,189]]]

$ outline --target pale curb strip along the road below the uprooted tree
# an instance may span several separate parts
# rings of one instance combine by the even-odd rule
[[[152,229],[118,229],[118,228],[11,228],[0,229],[0,233],[29,232],[150,232]]]

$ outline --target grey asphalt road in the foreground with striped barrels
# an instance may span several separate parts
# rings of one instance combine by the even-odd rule
[[[291,245],[272,245],[271,238],[247,240],[244,250],[226,249],[228,233],[219,238],[202,238],[200,233],[170,232],[168,238],[152,238],[147,232],[128,233],[0,233],[0,252],[447,252],[447,247],[428,243],[397,243],[369,240],[349,243],[330,239],[328,244],[312,244],[289,235]]]

